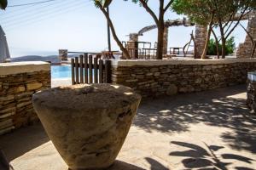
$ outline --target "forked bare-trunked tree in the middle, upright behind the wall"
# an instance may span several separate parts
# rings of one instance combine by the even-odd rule
[[[125,0],[128,1],[128,0]],[[148,0],[131,0],[133,3],[140,3],[140,5],[146,9],[148,14],[152,16],[154,22],[158,28],[158,36],[157,36],[157,51],[156,51],[156,59],[163,59],[163,40],[164,40],[164,31],[165,31],[165,14],[166,11],[171,7],[174,0],[159,0],[159,14],[155,14],[152,8],[148,6]],[[155,0],[154,0],[155,1]],[[165,5],[166,4],[166,5]],[[158,15],[158,16],[157,16]]]

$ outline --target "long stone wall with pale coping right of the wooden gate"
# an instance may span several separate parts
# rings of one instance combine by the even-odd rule
[[[112,61],[112,82],[143,97],[200,92],[245,83],[256,59]]]

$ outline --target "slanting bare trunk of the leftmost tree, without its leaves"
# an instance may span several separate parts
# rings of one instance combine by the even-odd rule
[[[131,59],[128,50],[126,48],[124,48],[122,42],[119,41],[119,38],[117,37],[116,32],[114,30],[112,20],[110,19],[107,11],[102,6],[100,6],[100,9],[101,9],[102,13],[105,15],[106,19],[108,20],[108,26],[111,29],[113,39],[114,39],[115,42],[117,42],[120,50],[123,52],[123,55],[124,55],[125,59]]]

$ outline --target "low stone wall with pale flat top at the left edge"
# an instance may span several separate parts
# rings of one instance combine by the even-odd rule
[[[0,64],[0,134],[38,120],[32,94],[44,88],[50,88],[48,63]]]

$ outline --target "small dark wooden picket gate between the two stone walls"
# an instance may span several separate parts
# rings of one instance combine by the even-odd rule
[[[71,59],[72,84],[111,83],[111,61],[82,54]]]

